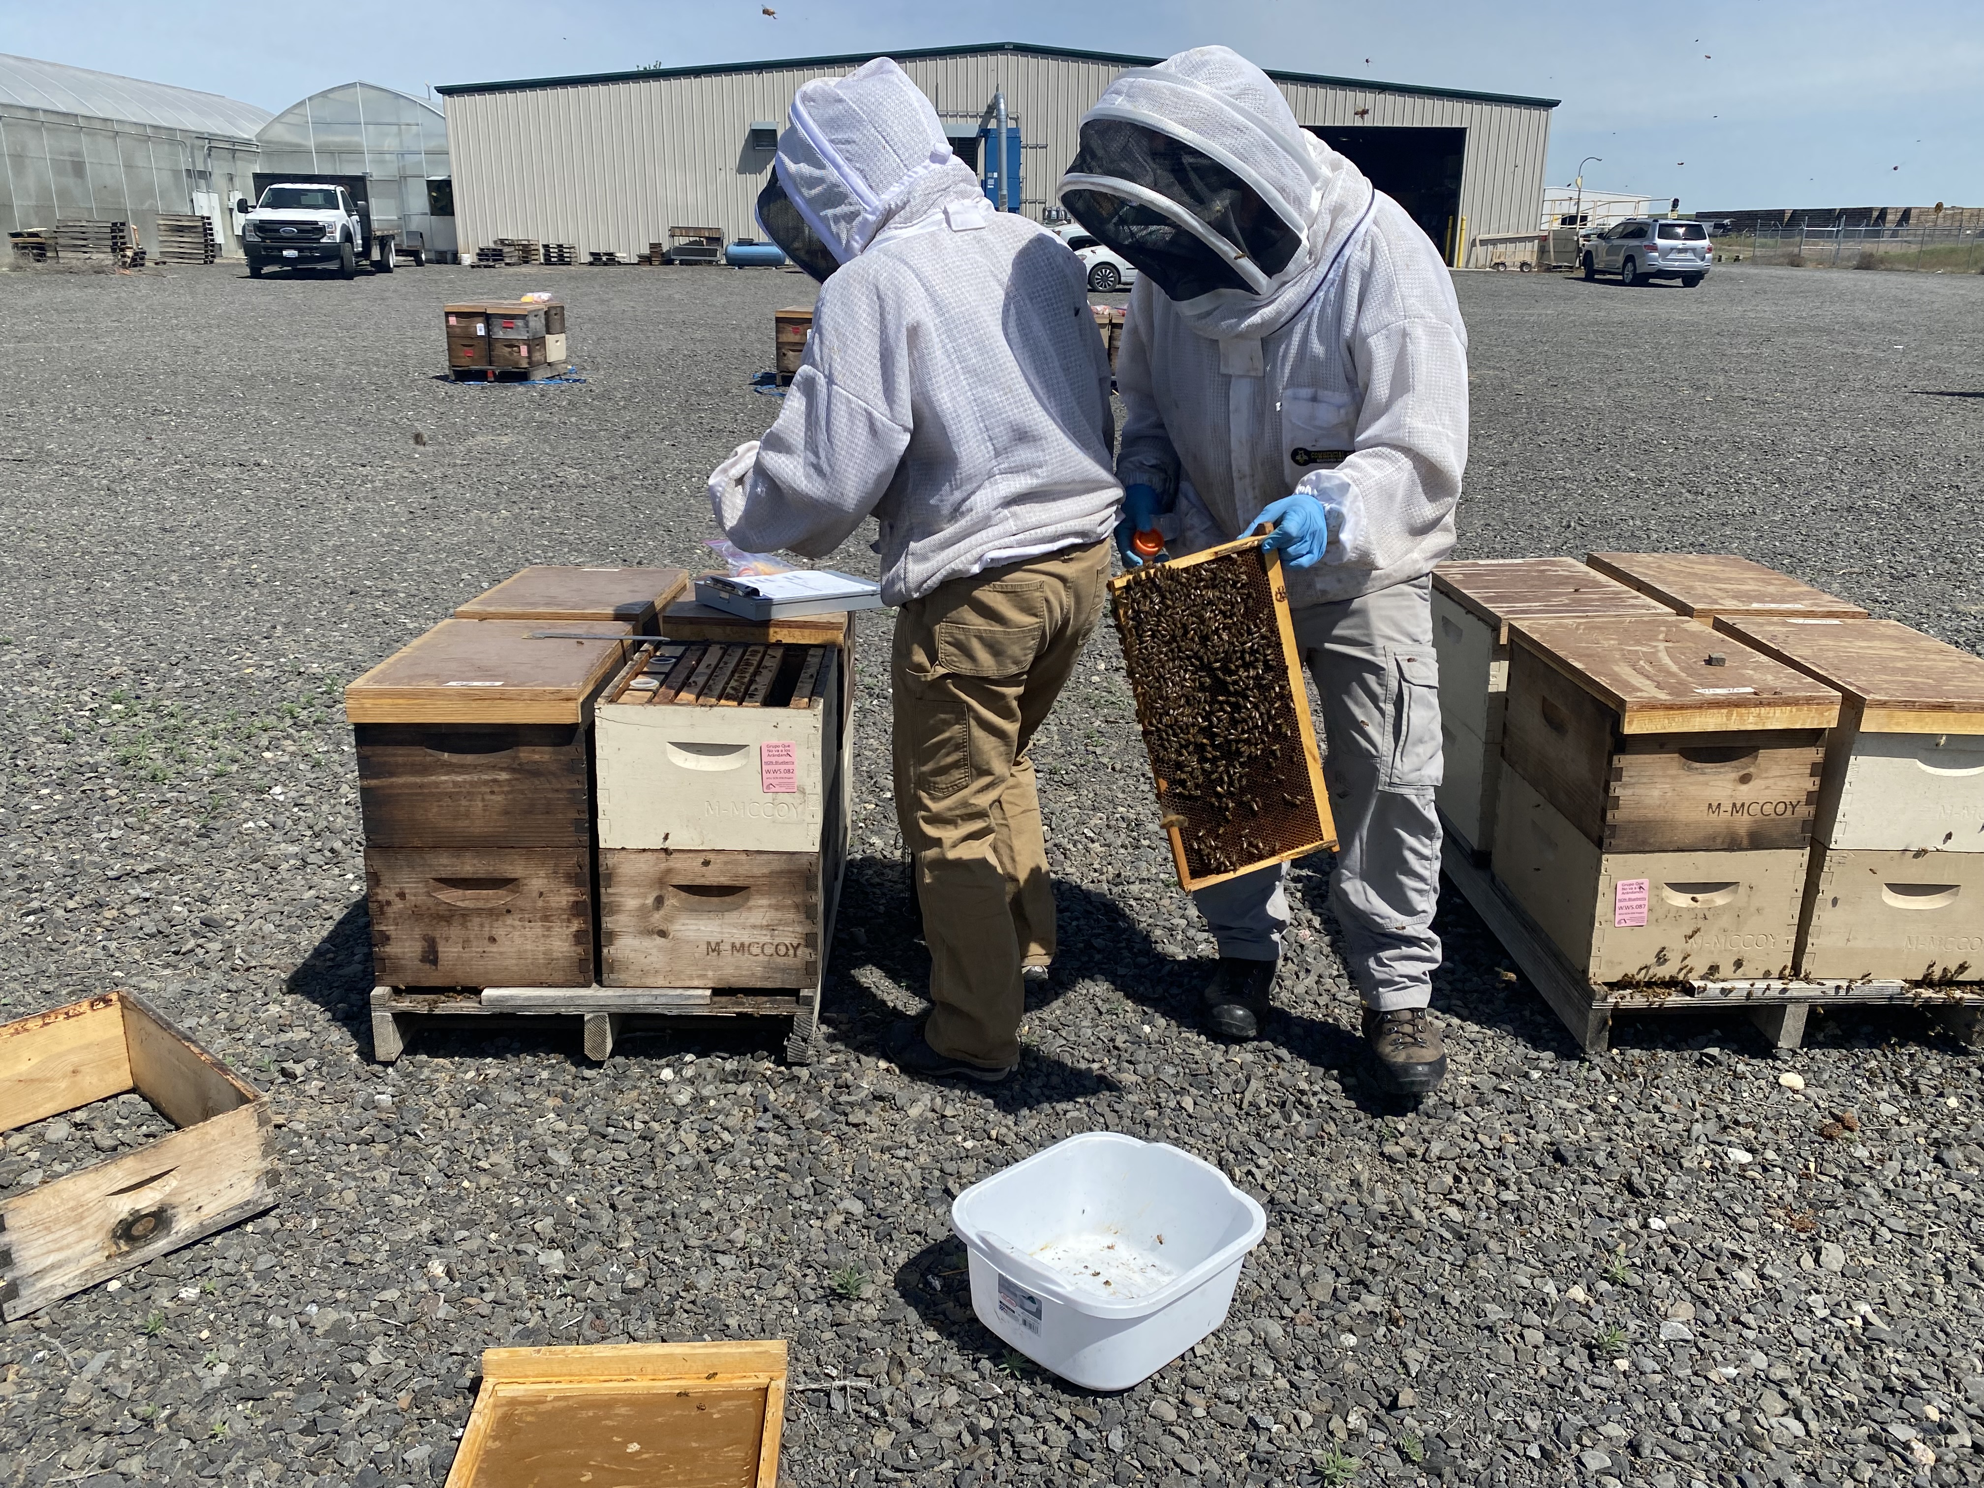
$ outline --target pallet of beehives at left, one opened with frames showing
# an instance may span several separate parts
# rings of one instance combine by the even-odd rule
[[[684,577],[524,569],[347,688],[381,1059],[500,1014],[583,1014],[593,1057],[633,1016],[778,1014],[809,1057],[851,627],[671,605]]]

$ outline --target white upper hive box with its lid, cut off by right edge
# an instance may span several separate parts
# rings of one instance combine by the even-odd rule
[[[1724,617],[1716,629],[1843,694],[1815,841],[1984,853],[1984,659],[1887,619]]]

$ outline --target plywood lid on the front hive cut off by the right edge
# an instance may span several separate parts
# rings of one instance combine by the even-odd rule
[[[1716,629],[1837,686],[1871,734],[1984,734],[1984,657],[1901,621],[1722,617]]]

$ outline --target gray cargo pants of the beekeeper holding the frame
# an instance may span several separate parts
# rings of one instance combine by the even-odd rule
[[[1432,579],[1294,613],[1323,700],[1323,784],[1337,819],[1329,903],[1367,1008],[1425,1008],[1440,938],[1440,677]],[[1192,895],[1222,956],[1274,960],[1288,929],[1286,865]]]

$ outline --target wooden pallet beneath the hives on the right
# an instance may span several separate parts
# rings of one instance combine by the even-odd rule
[[[1440,819],[1446,825],[1444,817]],[[1875,1004],[1932,1008],[1946,1016],[1950,1030],[1978,1042],[1984,1032],[1984,984],[1950,982],[1845,982],[1760,976],[1750,980],[1690,980],[1674,984],[1607,986],[1589,982],[1563,958],[1544,929],[1530,919],[1494,875],[1474,863],[1458,833],[1444,833],[1440,869],[1468,901],[1510,960],[1544,994],[1550,1010],[1563,1020],[1571,1040],[1587,1055],[1611,1048],[1615,1012],[1718,1012],[1740,1010],[1758,1026],[1772,1048],[1796,1050],[1805,1038],[1805,1018],[1813,1006]]]

